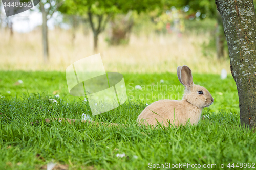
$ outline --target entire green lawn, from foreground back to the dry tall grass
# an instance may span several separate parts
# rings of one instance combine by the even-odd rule
[[[91,115],[88,103],[82,98],[68,94],[62,72],[0,71],[0,79],[0,167],[3,169],[40,169],[52,161],[68,165],[69,169],[149,169],[149,163],[216,164],[216,169],[225,163],[227,169],[228,163],[256,162],[256,134],[240,126],[238,95],[232,77],[221,80],[219,75],[195,74],[194,83],[209,90],[214,104],[203,110],[197,126],[155,129],[139,127],[136,118],[146,103],[158,99],[136,100],[135,92],[145,95],[151,91],[132,90],[132,87],[155,85],[161,79],[166,85],[180,85],[176,74],[124,74],[127,93],[133,95],[130,93],[122,106],[96,116]],[[23,83],[15,85],[18,80]],[[129,86],[129,83],[133,84]],[[160,90],[159,85],[157,89],[153,94],[182,93],[182,90]],[[31,125],[49,117],[81,119],[83,113],[97,122],[126,126],[58,122]],[[116,156],[123,153],[122,158]]]

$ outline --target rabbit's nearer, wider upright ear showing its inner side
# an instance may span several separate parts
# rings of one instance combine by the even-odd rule
[[[188,66],[183,65],[181,67],[180,79],[179,80],[180,80],[181,84],[183,84],[187,88],[189,88],[191,85],[194,84],[193,79],[192,79],[192,72]]]

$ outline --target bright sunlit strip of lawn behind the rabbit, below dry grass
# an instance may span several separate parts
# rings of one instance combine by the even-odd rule
[[[178,80],[177,74],[123,74],[127,96],[132,101],[152,103],[161,99],[181,100],[184,86]],[[54,97],[59,94],[63,100],[78,98],[68,91],[65,72],[58,71],[0,71],[0,97],[20,98],[23,94],[42,94]],[[18,83],[22,80],[23,83]],[[161,82],[162,81],[162,82]],[[195,84],[204,86],[214,98],[214,104],[205,110],[219,112],[239,112],[239,101],[236,84],[231,76],[222,80],[220,75],[193,74]],[[139,85],[141,89],[135,87]],[[83,100],[83,98],[81,98]],[[80,100],[79,100],[80,101]]]

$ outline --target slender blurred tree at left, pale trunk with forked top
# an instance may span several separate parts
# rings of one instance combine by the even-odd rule
[[[44,49],[44,62],[49,60],[49,43],[48,43],[48,26],[47,21],[52,17],[54,12],[63,3],[62,0],[45,0],[40,1],[39,9],[42,13],[42,44]]]

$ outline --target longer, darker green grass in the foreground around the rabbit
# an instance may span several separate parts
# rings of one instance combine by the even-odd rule
[[[92,117],[96,122],[124,125],[58,122],[31,125],[49,117],[81,119],[91,114],[82,101],[58,104],[47,95],[0,99],[0,166],[3,169],[40,169],[50,162],[69,169],[149,169],[152,164],[254,163],[256,135],[240,126],[239,115],[205,110],[197,126],[146,128],[136,118],[146,107],[127,102]],[[121,156],[120,156],[121,155]],[[186,166],[183,169],[186,169]],[[179,168],[180,169],[180,168]]]

